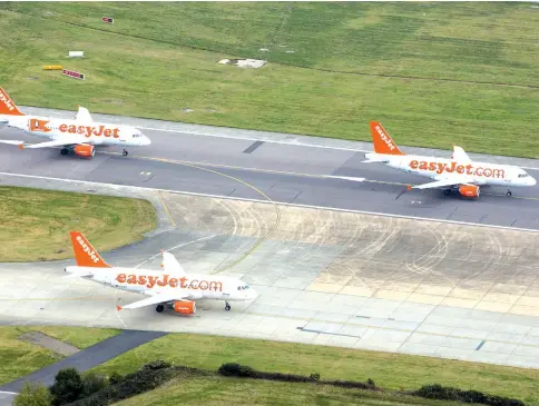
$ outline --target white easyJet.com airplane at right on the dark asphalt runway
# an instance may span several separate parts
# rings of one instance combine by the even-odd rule
[[[382,125],[371,121],[374,152],[365,154],[363,162],[380,162],[403,172],[431,178],[434,181],[414,186],[413,189],[443,188],[445,196],[458,190],[461,196],[479,197],[481,186],[504,186],[507,196],[510,187],[535,186],[537,180],[526,170],[511,165],[472,161],[461,147],[453,145],[451,159],[406,155],[391,139]],[[409,190],[411,189],[408,186]]]

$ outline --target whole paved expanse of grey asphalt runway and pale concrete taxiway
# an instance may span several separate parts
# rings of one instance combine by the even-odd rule
[[[0,267],[2,323],[222,334],[539,367],[538,235],[514,229],[539,229],[539,187],[513,189],[511,198],[484,188],[479,200],[403,194],[405,184],[424,179],[361,164],[363,152],[335,148],[335,140],[307,147],[286,137],[271,142],[257,133],[234,139],[231,129],[214,129],[227,136],[212,137],[160,126],[170,128],[146,129],[153,145],[128,157],[112,148],[88,160],[0,145],[0,172],[31,176],[0,174],[0,185],[111,194],[146,188],[133,194],[158,196],[171,227],[107,252],[106,260],[157,269],[159,249],[176,247],[188,273],[235,274],[262,296],[229,313],[219,303],[200,304],[194,318],[156,316],[153,308],[119,315],[115,304],[138,296],[62,280],[71,261],[7,264]],[[7,129],[0,138],[36,142]],[[32,298],[24,299],[29,289]]]

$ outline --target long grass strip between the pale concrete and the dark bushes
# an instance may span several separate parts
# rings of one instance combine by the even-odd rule
[[[412,390],[422,385],[438,383],[539,405],[539,370],[535,369],[194,334],[167,335],[125,353],[94,370],[126,374],[156,359],[209,370],[217,370],[224,363],[239,363],[265,372],[306,376],[318,373],[321,379],[365,382],[371,378],[378,386],[394,390]]]

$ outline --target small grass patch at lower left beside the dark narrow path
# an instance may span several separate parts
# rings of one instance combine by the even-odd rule
[[[0,327],[0,385],[31,374],[61,357],[52,351],[18,337],[24,333],[39,331],[77,348],[90,347],[119,333],[111,328],[86,327]]]

